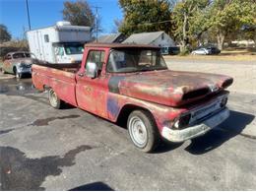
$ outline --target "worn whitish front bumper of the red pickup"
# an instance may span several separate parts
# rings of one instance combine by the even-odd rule
[[[161,136],[170,142],[184,142],[186,140],[204,135],[212,128],[224,122],[228,116],[229,110],[225,108],[224,110],[204,120],[200,124],[190,126],[182,130],[174,130],[169,127],[163,127]]]

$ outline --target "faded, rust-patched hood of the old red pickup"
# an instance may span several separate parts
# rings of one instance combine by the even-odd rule
[[[112,76],[108,88],[123,96],[179,106],[218,93],[232,82],[224,75],[164,70]]]

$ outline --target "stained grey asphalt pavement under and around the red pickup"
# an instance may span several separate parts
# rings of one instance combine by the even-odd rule
[[[127,130],[78,108],[50,107],[31,79],[0,80],[2,190],[255,190],[255,95],[231,92],[230,117],[153,154]]]

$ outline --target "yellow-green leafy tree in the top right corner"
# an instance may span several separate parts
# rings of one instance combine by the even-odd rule
[[[254,0],[215,0],[212,6],[211,31],[217,36],[222,50],[227,35],[239,32],[244,25],[255,24]]]

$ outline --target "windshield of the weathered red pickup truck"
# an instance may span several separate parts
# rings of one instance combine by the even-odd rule
[[[159,50],[126,49],[112,50],[107,62],[107,72],[129,73],[166,70],[166,64]]]

